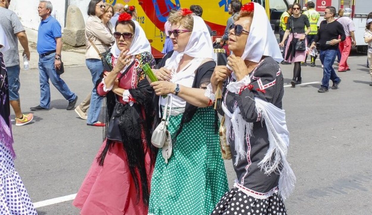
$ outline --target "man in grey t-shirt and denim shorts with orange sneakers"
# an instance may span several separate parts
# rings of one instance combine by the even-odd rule
[[[28,39],[18,16],[11,10],[8,10],[10,0],[0,0],[0,25],[3,27],[6,37],[9,41],[10,49],[4,51],[4,62],[9,81],[9,100],[16,115],[16,126],[26,125],[33,119],[32,113],[23,114],[19,98],[19,54],[18,40],[23,47],[23,55],[30,60],[30,51],[28,49]]]

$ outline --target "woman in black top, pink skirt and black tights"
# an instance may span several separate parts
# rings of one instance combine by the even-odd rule
[[[310,33],[310,22],[306,15],[301,14],[301,5],[295,3],[292,9],[293,16],[288,19],[287,29],[284,33],[282,42],[279,43],[279,46],[284,46],[284,41],[287,39],[287,46],[285,47],[285,61],[294,62],[295,66],[293,68],[293,78],[291,81],[292,87],[295,87],[296,84],[301,84],[301,62],[305,62],[306,50],[305,51],[296,51],[295,44],[292,45],[293,38],[297,38],[299,41],[302,41]],[[307,31],[305,32],[305,26]],[[307,41],[305,40],[305,47],[307,47]]]

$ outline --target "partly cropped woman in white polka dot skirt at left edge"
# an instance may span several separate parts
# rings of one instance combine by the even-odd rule
[[[10,122],[9,86],[3,51],[9,49],[0,25],[0,214],[37,215],[19,174],[15,170],[15,152]]]

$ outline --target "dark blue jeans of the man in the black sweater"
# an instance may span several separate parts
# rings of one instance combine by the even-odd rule
[[[335,49],[320,50],[320,61],[323,64],[322,87],[328,88],[329,80],[332,80],[333,83],[338,83],[340,81],[340,78],[336,75],[336,72],[333,69],[336,54],[337,50]]]

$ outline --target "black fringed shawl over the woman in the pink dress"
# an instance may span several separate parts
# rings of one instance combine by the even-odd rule
[[[108,57],[111,58],[111,54]],[[136,59],[140,60],[140,67],[137,69],[137,76],[144,77],[144,71],[141,69],[142,64],[149,63],[151,67],[154,67],[155,60],[153,56],[144,52],[136,56]],[[110,62],[110,61],[109,61]],[[128,68],[129,69],[129,68]],[[96,87],[101,83],[103,74],[96,83]],[[140,78],[138,78],[140,80]],[[122,104],[116,100],[116,95],[113,92],[108,92],[106,94],[106,125],[110,123],[115,123],[114,126],[119,127],[119,132],[122,139],[122,144],[124,151],[126,153],[127,162],[131,176],[134,180],[134,184],[137,190],[137,201],[140,199],[140,194],[142,194],[142,200],[145,205],[148,205],[150,198],[150,183],[148,181],[148,176],[145,168],[145,152],[150,150],[151,167],[155,165],[155,158],[157,154],[157,148],[151,144],[151,127],[153,125],[153,120],[155,118],[154,112],[154,90],[147,81],[147,78],[143,78],[139,83],[137,83],[136,89],[129,89],[129,93],[136,100],[133,106],[127,104]],[[142,112],[144,110],[144,114]],[[116,118],[116,120],[113,120]],[[146,148],[142,143],[142,129],[145,131],[146,138]],[[107,131],[107,127],[105,129]],[[110,131],[108,131],[110,132]],[[108,134],[104,134],[104,138]],[[110,147],[115,144],[114,141],[107,139],[106,147],[102,151],[102,154],[97,158],[97,162],[102,166],[106,154],[110,150]]]

